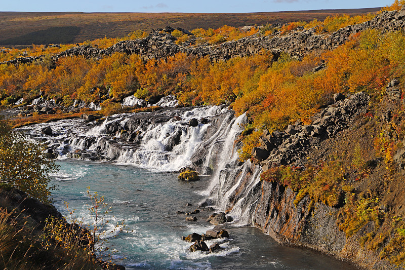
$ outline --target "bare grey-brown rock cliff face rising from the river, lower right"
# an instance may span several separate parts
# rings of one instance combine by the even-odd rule
[[[297,192],[289,187],[263,181],[261,196],[254,212],[254,225],[284,245],[312,248],[340,259],[354,261],[367,269],[402,269],[381,260],[378,252],[360,247],[358,239],[367,232],[368,224],[346,239],[336,225],[339,209],[317,203],[308,211],[309,198],[297,205]]]

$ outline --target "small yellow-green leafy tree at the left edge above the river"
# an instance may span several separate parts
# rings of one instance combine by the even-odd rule
[[[49,173],[58,165],[44,155],[44,148],[27,141],[22,134],[11,129],[6,120],[0,119],[0,183],[8,183],[29,196],[50,203]]]

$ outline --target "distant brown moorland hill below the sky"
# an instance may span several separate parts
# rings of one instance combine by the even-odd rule
[[[0,46],[81,43],[95,38],[125,36],[167,25],[188,30],[323,20],[335,14],[365,14],[381,8],[258,13],[83,13],[0,12]]]

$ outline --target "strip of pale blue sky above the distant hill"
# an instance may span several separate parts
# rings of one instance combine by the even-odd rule
[[[4,0],[2,2],[0,11],[238,13],[374,8],[391,5],[394,0]]]

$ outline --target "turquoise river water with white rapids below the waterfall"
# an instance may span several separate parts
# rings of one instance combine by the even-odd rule
[[[87,186],[104,196],[112,207],[106,218],[127,225],[106,244],[115,251],[113,259],[127,269],[357,269],[311,250],[279,246],[257,228],[232,224],[226,226],[229,239],[219,242],[225,248],[220,253],[189,252],[191,243],[181,237],[213,228],[205,221],[213,209],[200,208],[195,222],[185,221],[184,214],[205,200],[200,194],[209,186],[208,178],[186,182],[177,173],[82,160],[58,164],[55,206],[68,217],[68,202],[77,219],[91,223]]]

